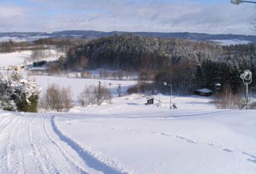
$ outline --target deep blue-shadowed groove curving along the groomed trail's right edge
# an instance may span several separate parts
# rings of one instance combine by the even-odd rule
[[[93,168],[97,171],[102,171],[104,174],[121,174],[121,171],[116,170],[115,168],[112,168],[111,166],[108,166],[107,164],[102,163],[99,161],[99,159],[93,157],[92,155],[88,154],[88,152],[85,152],[84,149],[77,144],[72,139],[65,136],[63,133],[61,133],[60,129],[56,126],[54,122],[55,116],[51,118],[51,125],[54,130],[54,132],[59,136],[60,140],[65,141],[67,145],[69,145],[74,151],[79,154],[81,159],[83,159],[84,163],[87,164],[90,168]]]

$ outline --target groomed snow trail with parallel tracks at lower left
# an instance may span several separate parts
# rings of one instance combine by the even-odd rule
[[[52,115],[0,115],[0,173],[122,173],[62,134]]]

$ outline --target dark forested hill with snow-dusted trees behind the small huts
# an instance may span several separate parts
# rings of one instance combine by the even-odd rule
[[[205,41],[124,34],[71,48],[61,62],[64,69],[74,71],[97,68],[135,71],[139,80],[143,72],[145,80],[154,80],[150,89],[161,92],[169,91],[163,85],[168,82],[172,83],[173,92],[180,95],[203,87],[214,89],[216,83],[230,86],[236,93],[243,89],[239,75],[244,69],[255,71],[255,51],[254,44],[221,46]]]

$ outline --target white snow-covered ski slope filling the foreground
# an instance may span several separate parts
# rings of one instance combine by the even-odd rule
[[[155,96],[157,98],[158,96]],[[0,173],[256,173],[256,112],[126,96],[68,113],[0,110]]]

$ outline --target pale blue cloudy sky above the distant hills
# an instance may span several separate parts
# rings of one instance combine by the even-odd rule
[[[154,31],[256,34],[254,4],[230,0],[0,0],[0,32]]]

